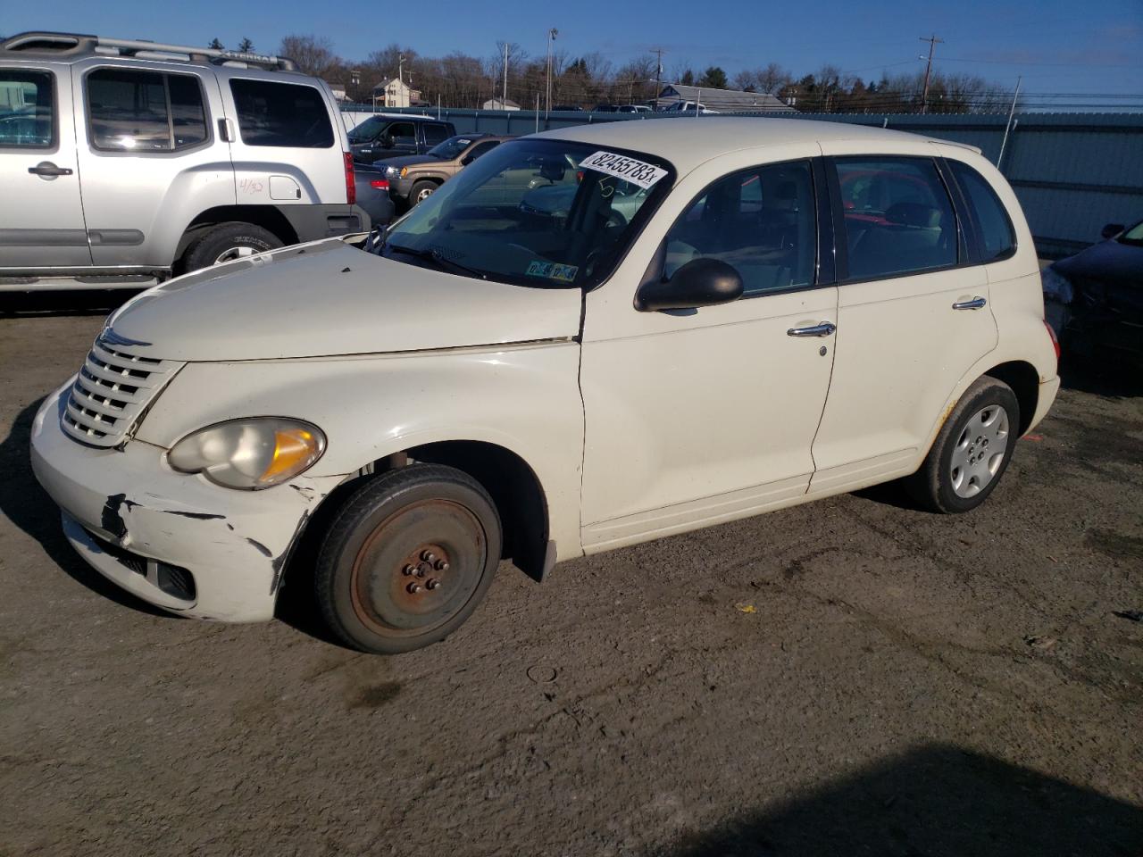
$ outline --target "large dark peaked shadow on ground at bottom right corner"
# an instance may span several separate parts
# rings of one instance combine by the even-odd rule
[[[685,835],[663,857],[1138,857],[1143,808],[945,744]]]

